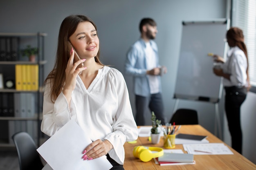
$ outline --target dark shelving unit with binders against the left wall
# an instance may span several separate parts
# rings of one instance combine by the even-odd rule
[[[0,147],[14,147],[11,136],[18,131],[29,132],[35,143],[37,145],[40,144],[40,137],[42,136],[40,122],[43,110],[43,73],[44,65],[47,63],[44,60],[45,36],[47,36],[47,33],[0,33],[0,55],[8,54],[14,56],[11,60],[7,59],[7,61],[2,61],[4,57],[0,56],[0,73],[3,75],[2,83],[4,84],[4,88],[0,89]],[[28,44],[38,48],[36,62],[29,62],[25,57],[21,57],[21,50]],[[38,90],[23,91],[16,90],[15,86],[12,88],[5,86],[5,81],[10,78],[15,84],[15,66],[17,64],[38,65]],[[8,96],[8,99],[5,99],[4,95]],[[27,97],[22,98],[24,96]],[[6,102],[5,100],[8,101]],[[10,107],[6,115],[3,115],[3,103],[8,105],[7,108]],[[13,113],[10,111],[10,105],[13,107]],[[31,109],[25,109],[25,116],[24,113],[22,113],[23,115],[21,113],[16,114],[16,112],[21,112],[23,106],[31,106]],[[30,111],[31,113],[28,113]]]

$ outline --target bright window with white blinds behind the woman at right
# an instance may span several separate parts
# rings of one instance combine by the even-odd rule
[[[256,89],[256,0],[232,0],[231,26],[243,30],[248,51],[249,77]],[[254,91],[255,92],[255,91]]]

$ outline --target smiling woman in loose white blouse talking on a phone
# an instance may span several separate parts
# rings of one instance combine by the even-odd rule
[[[107,155],[111,170],[124,170],[124,143],[137,139],[137,125],[123,75],[99,60],[97,27],[90,18],[63,20],[45,84],[42,132],[52,136],[74,119],[93,141],[81,151],[83,159]]]

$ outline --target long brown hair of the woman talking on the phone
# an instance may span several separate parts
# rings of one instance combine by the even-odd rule
[[[54,68],[49,73],[49,75],[47,76],[44,82],[44,84],[46,84],[47,80],[50,81],[50,85],[51,85],[50,96],[52,101],[54,101],[58,97],[58,95],[61,93],[62,88],[65,84],[65,69],[67,67],[67,62],[70,57],[70,51],[68,49],[68,46],[70,44],[68,43],[68,40],[70,36],[76,31],[78,24],[85,21],[91,22],[97,31],[96,24],[89,17],[84,15],[67,16],[61,23],[59,34],[58,34],[58,46],[57,46],[57,53],[56,53]],[[95,62],[103,66],[103,64],[99,60],[99,56],[100,56],[99,54],[100,54],[100,50],[98,51],[94,59],[95,59]]]

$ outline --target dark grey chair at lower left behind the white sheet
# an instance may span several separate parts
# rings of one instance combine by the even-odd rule
[[[31,136],[27,132],[17,132],[12,139],[18,152],[20,170],[42,170],[44,166]]]

